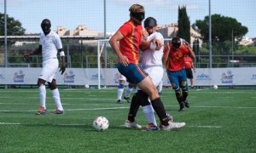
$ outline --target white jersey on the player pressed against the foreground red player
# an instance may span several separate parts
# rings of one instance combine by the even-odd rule
[[[164,44],[164,37],[160,34],[160,32],[154,32],[150,36],[147,37],[147,41],[158,39]],[[160,50],[151,50],[148,48],[143,51],[143,67],[148,66],[162,66],[162,57],[164,54],[164,47],[160,48]]]

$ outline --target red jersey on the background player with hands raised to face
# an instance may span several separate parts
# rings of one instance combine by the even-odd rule
[[[167,49],[164,49],[164,56],[166,55]],[[169,53],[169,68],[168,71],[180,71],[184,68],[184,56],[189,54],[189,48],[186,48],[183,44],[175,50],[172,47]],[[167,55],[168,56],[168,55]]]

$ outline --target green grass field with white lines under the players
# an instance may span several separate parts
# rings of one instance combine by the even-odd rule
[[[116,104],[116,89],[60,89],[66,110],[55,115],[48,89],[47,109],[35,115],[38,89],[0,89],[0,152],[256,152],[255,89],[192,89],[190,108],[178,112],[171,89],[161,99],[178,131],[143,132],[122,125],[129,104]],[[92,122],[106,116],[107,131]],[[158,119],[158,118],[157,118]],[[137,122],[146,125],[140,110]]]

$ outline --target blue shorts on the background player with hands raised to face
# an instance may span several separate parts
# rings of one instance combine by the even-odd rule
[[[188,90],[187,76],[185,69],[180,71],[167,71],[167,76],[172,84],[172,88],[177,90],[182,88],[183,91]]]

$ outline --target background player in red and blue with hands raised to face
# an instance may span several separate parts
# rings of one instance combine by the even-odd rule
[[[195,53],[189,47],[189,43],[182,43],[182,39],[179,37],[173,37],[172,43],[167,44],[164,49],[163,62],[166,65],[167,76],[180,105],[178,111],[183,111],[185,107],[189,108],[189,102],[187,100],[189,90],[186,71],[184,69],[185,55],[189,55],[189,57],[195,59]]]

